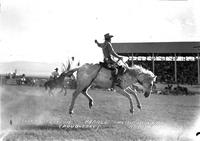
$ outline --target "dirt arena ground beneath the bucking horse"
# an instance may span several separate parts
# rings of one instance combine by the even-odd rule
[[[3,141],[190,141],[200,140],[200,96],[139,95],[142,110],[129,113],[128,100],[113,92],[90,90],[94,106],[79,95],[74,115],[71,94],[48,96],[44,88],[0,87]]]

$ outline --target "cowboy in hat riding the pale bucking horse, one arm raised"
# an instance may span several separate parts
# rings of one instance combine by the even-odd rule
[[[114,69],[114,71],[112,72],[113,75],[113,83],[112,83],[112,87],[114,88],[114,86],[118,83],[117,82],[117,73],[118,73],[118,69],[115,67],[115,65],[113,64],[117,64],[115,60],[112,59],[112,56],[118,58],[119,60],[122,60],[123,57],[119,56],[113,49],[112,44],[111,44],[111,38],[114,37],[113,35],[110,35],[109,33],[104,35],[104,43],[99,43],[97,40],[95,40],[95,43],[98,45],[98,47],[101,47],[103,50],[103,55],[104,55],[104,62],[107,65],[111,65],[111,69]]]

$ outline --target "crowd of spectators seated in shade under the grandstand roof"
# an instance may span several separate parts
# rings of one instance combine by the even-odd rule
[[[128,60],[127,64],[132,65]],[[146,69],[153,71],[152,61],[136,61],[134,64],[141,65]],[[157,82],[161,83],[178,83],[178,84],[197,84],[198,69],[197,61],[177,61],[177,82],[175,82],[175,62],[174,61],[155,61],[154,73],[157,75]]]

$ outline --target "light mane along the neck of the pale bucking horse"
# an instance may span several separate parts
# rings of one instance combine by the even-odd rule
[[[150,70],[147,70],[145,68],[143,68],[141,65],[133,65],[132,67],[127,67],[128,70],[132,73],[137,73],[137,74],[147,74],[151,77],[155,77],[155,75],[153,74],[153,72],[151,72]]]

